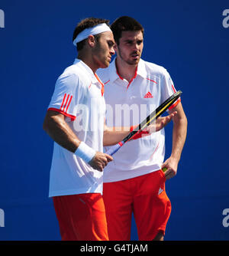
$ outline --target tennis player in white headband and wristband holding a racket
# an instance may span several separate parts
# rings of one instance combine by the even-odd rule
[[[103,153],[103,145],[114,145],[129,133],[105,126],[104,86],[95,73],[108,67],[114,54],[108,20],[80,21],[73,44],[78,56],[58,77],[44,120],[44,130],[54,140],[49,195],[62,240],[108,240],[102,171],[112,157]],[[162,119],[157,128],[171,119]]]

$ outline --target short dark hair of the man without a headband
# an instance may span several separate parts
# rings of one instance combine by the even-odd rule
[[[122,31],[142,31],[144,35],[144,28],[138,21],[134,18],[128,16],[121,16],[117,18],[111,24],[111,31],[114,34],[114,41],[119,44],[119,39],[121,38]]]

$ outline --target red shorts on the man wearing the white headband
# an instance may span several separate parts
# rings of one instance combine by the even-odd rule
[[[108,241],[102,195],[86,193],[53,197],[62,240]]]

